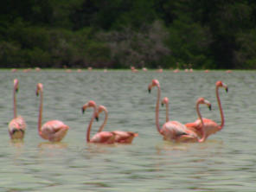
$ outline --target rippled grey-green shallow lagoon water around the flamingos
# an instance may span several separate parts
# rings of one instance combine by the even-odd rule
[[[15,78],[20,80],[18,114],[28,125],[24,141],[17,143],[7,131]],[[157,89],[147,91],[152,79],[170,99],[170,119],[182,123],[197,118],[198,97],[212,103],[211,112],[201,107],[203,117],[220,123],[214,84],[225,82],[228,93],[220,89],[224,129],[202,144],[164,142],[155,126]],[[0,191],[255,191],[255,80],[255,71],[1,70]],[[44,85],[42,121],[59,119],[70,126],[60,143],[37,134],[38,82]],[[138,138],[132,144],[86,144],[92,111],[82,114],[80,108],[89,99],[107,107],[106,131],[136,131]],[[93,123],[92,135],[103,118]],[[161,124],[164,119],[163,107]]]

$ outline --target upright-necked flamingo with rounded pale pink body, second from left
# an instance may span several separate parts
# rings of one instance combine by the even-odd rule
[[[36,86],[36,96],[40,93],[40,106],[38,116],[38,133],[41,138],[47,139],[51,142],[60,142],[67,134],[69,126],[63,124],[59,120],[51,120],[42,125],[42,83],[38,83]]]

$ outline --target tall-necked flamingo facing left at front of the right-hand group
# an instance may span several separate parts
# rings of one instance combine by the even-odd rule
[[[182,125],[178,121],[168,121],[160,129],[159,125],[159,103],[161,96],[161,88],[158,80],[152,80],[149,85],[149,93],[153,86],[157,86],[157,105],[156,105],[156,126],[157,131],[163,136],[164,140],[176,141],[176,142],[189,142],[197,140],[197,135],[194,131],[187,129],[185,125]]]

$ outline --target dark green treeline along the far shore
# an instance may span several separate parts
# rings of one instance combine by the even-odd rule
[[[0,67],[256,68],[253,0],[3,0]]]

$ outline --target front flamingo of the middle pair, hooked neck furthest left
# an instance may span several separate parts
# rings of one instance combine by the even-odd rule
[[[109,131],[101,131],[96,133],[93,138],[90,138],[90,132],[93,125],[94,118],[98,119],[97,105],[93,100],[90,100],[86,105],[82,106],[82,112],[86,111],[86,108],[93,107],[93,117],[90,120],[90,123],[87,128],[86,140],[87,143],[99,143],[99,144],[114,144],[115,143],[115,133]]]

